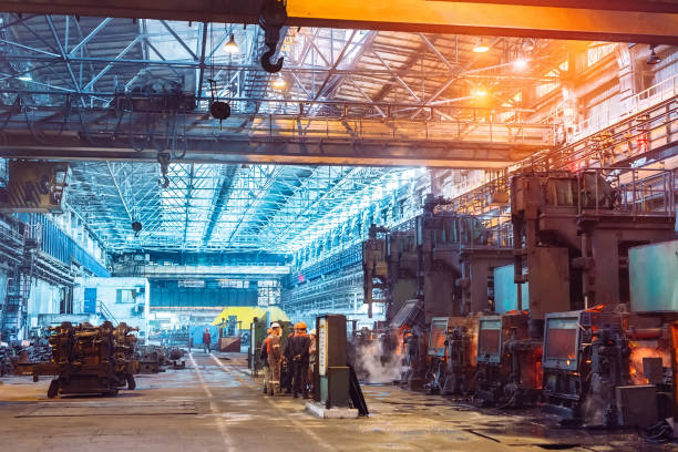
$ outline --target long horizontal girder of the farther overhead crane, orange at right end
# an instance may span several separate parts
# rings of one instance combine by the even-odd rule
[[[136,152],[127,140],[93,146],[72,136],[50,135],[50,145],[30,134],[6,133],[0,156],[58,161],[156,162],[157,152]],[[422,140],[346,140],[214,137],[192,138],[182,163],[261,163],[361,166],[430,166],[503,168],[548,146],[543,144],[479,143]]]

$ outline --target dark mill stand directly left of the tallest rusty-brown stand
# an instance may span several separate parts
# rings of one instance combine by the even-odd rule
[[[418,295],[424,300],[430,392],[466,393],[475,389],[479,322],[494,307],[494,269],[513,259],[508,222],[444,209],[449,201],[427,196],[417,218]],[[433,316],[444,319],[446,347]],[[470,317],[471,316],[471,317]],[[443,318],[438,322],[442,325]],[[438,342],[434,342],[438,341]]]

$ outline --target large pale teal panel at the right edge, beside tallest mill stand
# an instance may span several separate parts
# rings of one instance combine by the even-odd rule
[[[678,311],[678,240],[628,250],[631,310]]]

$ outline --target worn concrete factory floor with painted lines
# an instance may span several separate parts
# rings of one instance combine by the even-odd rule
[[[116,398],[48,400],[49,380],[1,379],[0,450],[21,451],[659,451],[634,432],[555,429],[533,411],[470,405],[367,386],[371,411],[358,420],[319,420],[289,396],[261,393],[240,355],[187,357],[186,370],[138,376]]]

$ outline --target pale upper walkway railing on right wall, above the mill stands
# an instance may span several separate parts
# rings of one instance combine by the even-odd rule
[[[678,95],[678,74],[622,101],[616,112],[608,109],[605,114],[582,121],[575,125],[574,133],[568,136],[567,141],[574,143],[583,140],[676,95]]]

